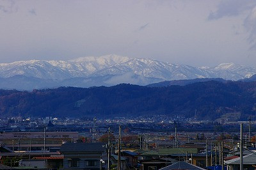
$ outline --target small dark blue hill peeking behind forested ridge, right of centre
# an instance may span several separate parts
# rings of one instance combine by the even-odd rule
[[[219,81],[219,82],[227,82],[224,79],[221,78],[216,78],[216,79],[190,79],[190,80],[179,80],[179,81],[162,81],[162,82],[157,82],[153,84],[148,84],[148,87],[167,87],[167,86],[186,86],[188,84],[193,84],[195,82],[207,82],[207,81]]]

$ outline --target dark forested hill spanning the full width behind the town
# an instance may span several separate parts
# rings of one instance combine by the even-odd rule
[[[0,90],[0,116],[140,116],[169,114],[215,120],[256,112],[256,82],[197,82],[186,86]]]

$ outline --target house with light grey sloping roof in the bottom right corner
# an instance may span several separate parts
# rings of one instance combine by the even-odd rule
[[[256,153],[250,153],[249,155],[243,156],[243,167],[244,169],[254,170],[256,169]],[[228,170],[240,169],[240,157],[225,160],[224,164],[227,165]]]

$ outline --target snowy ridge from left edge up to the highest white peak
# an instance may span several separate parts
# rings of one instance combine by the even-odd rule
[[[115,55],[100,57],[85,57],[70,61],[16,61],[0,63],[0,77],[24,75],[40,79],[68,79],[88,77],[93,72],[113,65],[116,62],[127,61],[128,58]]]

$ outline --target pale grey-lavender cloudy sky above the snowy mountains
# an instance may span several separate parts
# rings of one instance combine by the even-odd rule
[[[106,54],[256,66],[256,1],[0,0],[0,63]]]

